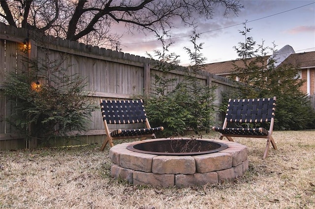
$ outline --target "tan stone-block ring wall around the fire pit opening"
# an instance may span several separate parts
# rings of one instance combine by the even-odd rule
[[[148,139],[141,142],[160,140],[169,139]],[[224,142],[228,147],[215,153],[176,156],[146,154],[127,149],[139,142],[115,145],[109,151],[113,162],[111,175],[138,185],[177,187],[216,184],[243,176],[249,166],[247,147],[236,142],[211,141]]]

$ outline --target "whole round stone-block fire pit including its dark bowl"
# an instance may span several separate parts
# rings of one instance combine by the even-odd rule
[[[190,141],[170,140],[173,139],[115,145],[109,151],[111,175],[138,185],[189,187],[235,179],[248,170],[248,151],[244,145],[198,139],[190,146]],[[179,148],[183,145],[187,146],[185,152]],[[189,149],[191,152],[187,152]]]

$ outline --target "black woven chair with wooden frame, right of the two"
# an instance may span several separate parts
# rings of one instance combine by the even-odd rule
[[[234,137],[267,138],[267,144],[263,159],[268,156],[270,142],[275,150],[276,143],[273,139],[272,131],[274,126],[274,116],[276,109],[276,97],[264,99],[229,99],[223,127],[212,127],[214,131],[221,132],[220,139],[225,136],[229,141]],[[231,124],[243,124],[254,128],[227,128]],[[269,127],[269,130],[268,130]]]

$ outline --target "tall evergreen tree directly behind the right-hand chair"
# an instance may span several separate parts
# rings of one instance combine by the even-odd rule
[[[256,45],[248,33],[244,23],[245,43],[238,43],[234,47],[242,65],[234,64],[238,76],[241,98],[270,98],[277,97],[277,110],[275,115],[275,130],[302,130],[313,128],[315,111],[310,101],[300,87],[304,80],[298,78],[298,66],[279,64],[275,59],[276,45],[265,47],[264,41]],[[257,49],[256,49],[257,46]],[[267,55],[270,50],[272,55]],[[279,64],[279,65],[277,65]]]

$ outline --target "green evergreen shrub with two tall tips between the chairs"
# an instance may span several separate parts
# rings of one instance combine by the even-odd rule
[[[196,45],[194,33],[191,36],[195,51],[186,48],[191,57],[190,71],[186,71],[185,79],[178,82],[170,72],[178,66],[178,56],[167,54],[168,47],[162,37],[163,51],[156,52],[159,60],[156,68],[161,71],[155,75],[151,93],[146,98],[146,112],[153,126],[163,126],[164,136],[182,134],[186,130],[196,133],[209,131],[214,115],[215,87],[206,86],[198,81],[196,75],[200,71],[200,63],[204,60],[199,52],[202,46]],[[167,63],[165,62],[167,61]]]

